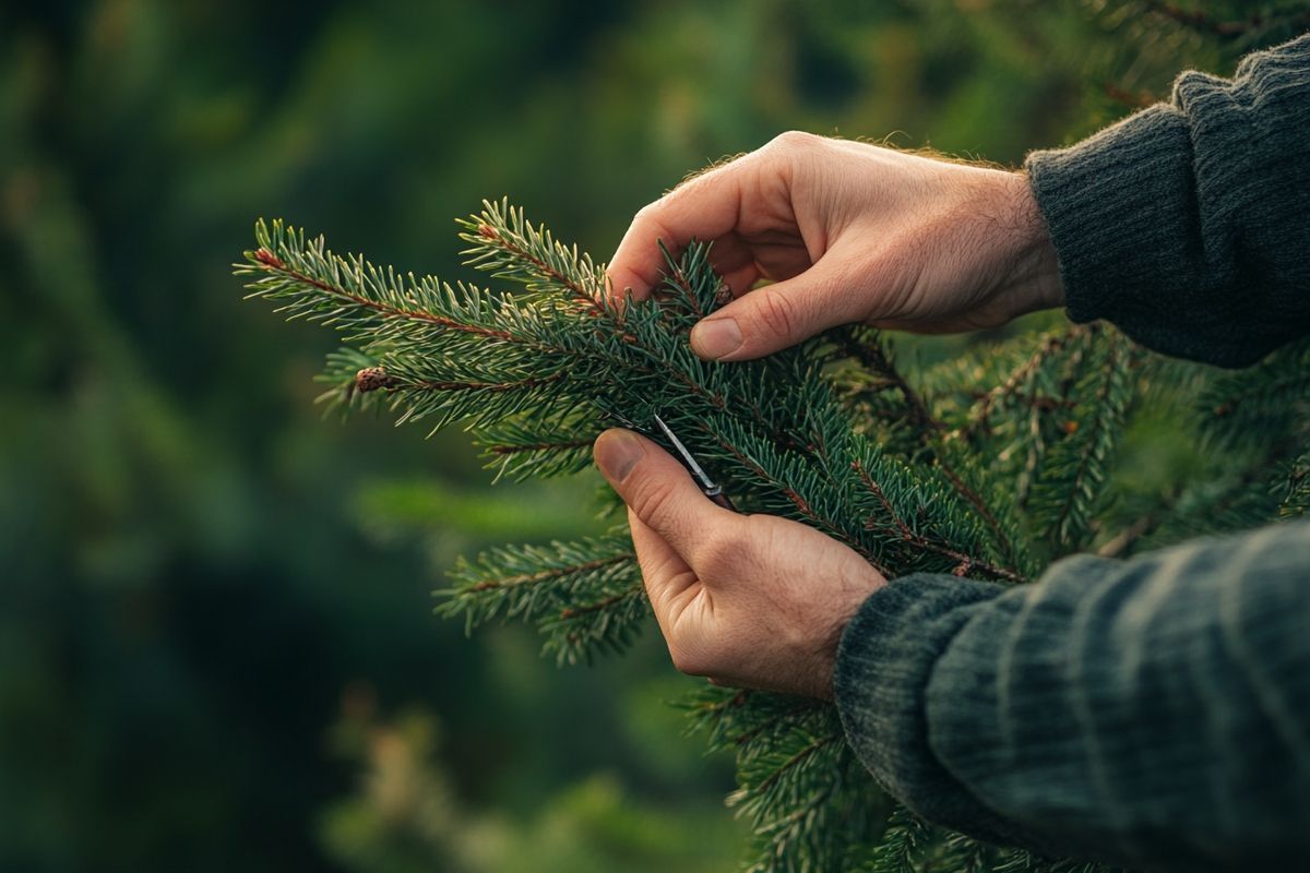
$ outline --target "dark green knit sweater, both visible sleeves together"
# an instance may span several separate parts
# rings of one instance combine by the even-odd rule
[[[1028,158],[1076,321],[1243,365],[1310,332],[1310,37]],[[1310,870],[1310,524],[1027,586],[899,579],[837,657],[855,751],[925,818],[1162,870]]]

